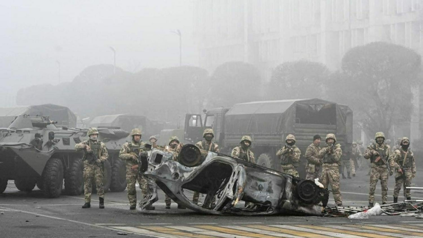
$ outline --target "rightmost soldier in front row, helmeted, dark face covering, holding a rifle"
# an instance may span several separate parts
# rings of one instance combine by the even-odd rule
[[[416,176],[416,163],[414,162],[414,154],[411,152],[410,140],[407,137],[399,142],[401,146],[396,149],[393,154],[393,161],[395,165],[395,187],[394,187],[394,203],[398,202],[398,194],[401,186],[404,184],[405,187],[411,186],[411,179]],[[405,189],[405,187],[403,189]],[[410,189],[406,189],[406,198],[411,200]]]

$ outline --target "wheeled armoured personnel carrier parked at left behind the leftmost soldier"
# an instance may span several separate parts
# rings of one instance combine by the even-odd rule
[[[67,194],[82,193],[83,154],[74,147],[88,139],[87,129],[57,127],[48,117],[24,115],[0,132],[0,193],[8,180],[14,180],[21,191],[31,191],[37,185],[50,198],[60,196],[63,181]],[[126,168],[119,150],[128,135],[121,129],[99,129],[99,139],[109,153],[104,164],[104,190],[125,190]]]

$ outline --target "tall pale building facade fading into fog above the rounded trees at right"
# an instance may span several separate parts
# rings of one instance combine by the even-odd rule
[[[373,41],[423,53],[422,0],[194,0],[193,4],[199,66],[210,72],[227,61],[245,61],[268,80],[280,63],[300,59],[336,70],[345,52]],[[416,126],[423,128],[421,93],[416,95],[411,132]]]

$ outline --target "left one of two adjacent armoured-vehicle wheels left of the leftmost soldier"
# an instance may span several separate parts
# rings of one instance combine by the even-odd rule
[[[62,193],[63,163],[60,159],[51,158],[42,171],[42,188],[49,198],[57,198]]]

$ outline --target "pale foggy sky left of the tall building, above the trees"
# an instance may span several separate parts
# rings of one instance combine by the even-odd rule
[[[2,1],[0,106],[12,106],[19,88],[71,81],[85,67],[113,64],[127,71],[197,66],[189,0]],[[41,92],[40,92],[41,93]],[[45,93],[45,92],[44,92]]]

